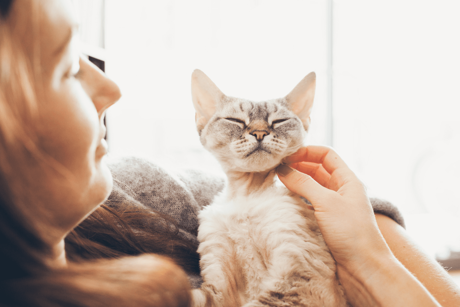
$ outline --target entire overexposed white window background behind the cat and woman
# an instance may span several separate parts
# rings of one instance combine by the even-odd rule
[[[83,52],[123,93],[107,112],[112,156],[220,174],[196,132],[192,71],[256,101],[315,71],[306,142],[333,146],[431,256],[460,258],[460,1],[74,2]]]

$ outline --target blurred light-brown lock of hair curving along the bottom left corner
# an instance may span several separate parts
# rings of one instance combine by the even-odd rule
[[[184,271],[161,256],[70,263],[65,270],[1,283],[5,307],[187,307]]]

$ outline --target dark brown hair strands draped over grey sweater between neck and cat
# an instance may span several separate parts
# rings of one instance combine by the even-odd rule
[[[178,231],[169,216],[110,201],[69,233],[66,254],[79,261],[155,253],[172,258],[186,272],[200,273],[197,246]]]

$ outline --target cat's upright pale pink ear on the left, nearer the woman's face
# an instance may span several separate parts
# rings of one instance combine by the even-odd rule
[[[196,128],[201,131],[216,112],[216,105],[225,97],[224,93],[200,69],[192,73],[192,101],[195,107]]]

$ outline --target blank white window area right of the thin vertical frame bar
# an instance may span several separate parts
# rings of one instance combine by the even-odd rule
[[[460,248],[460,1],[334,1],[334,147],[429,253]]]

